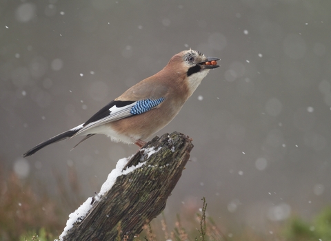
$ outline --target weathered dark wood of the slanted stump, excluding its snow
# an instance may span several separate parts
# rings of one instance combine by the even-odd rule
[[[143,149],[158,150],[149,158]],[[143,225],[157,217],[181,177],[193,148],[190,138],[173,132],[153,138],[127,166],[146,164],[119,176],[112,188],[94,202],[86,218],[74,224],[63,240],[133,240]]]

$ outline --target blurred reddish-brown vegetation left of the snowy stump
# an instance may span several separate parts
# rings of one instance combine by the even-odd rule
[[[24,237],[37,240],[32,237],[36,238],[36,233],[38,240],[54,240],[62,233],[68,213],[84,198],[74,167],[68,167],[69,185],[57,170],[53,170],[53,178],[57,180],[55,192],[47,190],[43,183],[36,184],[33,176],[20,180],[14,173],[6,176],[0,171],[0,241],[25,240]]]

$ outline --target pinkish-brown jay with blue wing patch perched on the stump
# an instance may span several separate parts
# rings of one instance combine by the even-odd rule
[[[95,134],[106,134],[114,142],[134,143],[141,148],[148,137],[172,121],[208,72],[219,67],[219,60],[197,50],[181,51],[163,70],[130,87],[86,123],[40,143],[23,157],[60,140],[85,136],[81,143]]]

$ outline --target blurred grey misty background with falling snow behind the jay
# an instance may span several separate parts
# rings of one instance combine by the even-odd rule
[[[86,121],[192,48],[221,58],[172,123],[193,138],[165,215],[267,229],[331,200],[331,1],[1,1],[1,172],[57,195],[77,169],[99,192],[134,145],[94,136],[21,154]],[[74,211],[74,210],[72,210]]]

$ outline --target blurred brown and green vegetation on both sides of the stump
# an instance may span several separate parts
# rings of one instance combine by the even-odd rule
[[[56,197],[50,196],[43,187],[38,192],[34,191],[27,180],[19,180],[14,174],[6,179],[0,174],[0,241],[48,241],[57,238],[66,224],[70,212],[68,207],[73,211],[85,200],[79,194],[79,181],[74,167],[68,167],[68,174],[70,185],[65,185],[63,178],[54,173],[58,183]],[[331,207],[325,207],[310,222],[292,216],[281,227],[274,224],[277,232],[270,235],[258,233],[249,227],[234,227],[235,231],[225,227],[220,229],[211,217],[206,216],[205,198],[201,203],[203,207],[195,218],[177,215],[177,221],[169,225],[162,215],[146,225],[134,240],[331,240]]]

